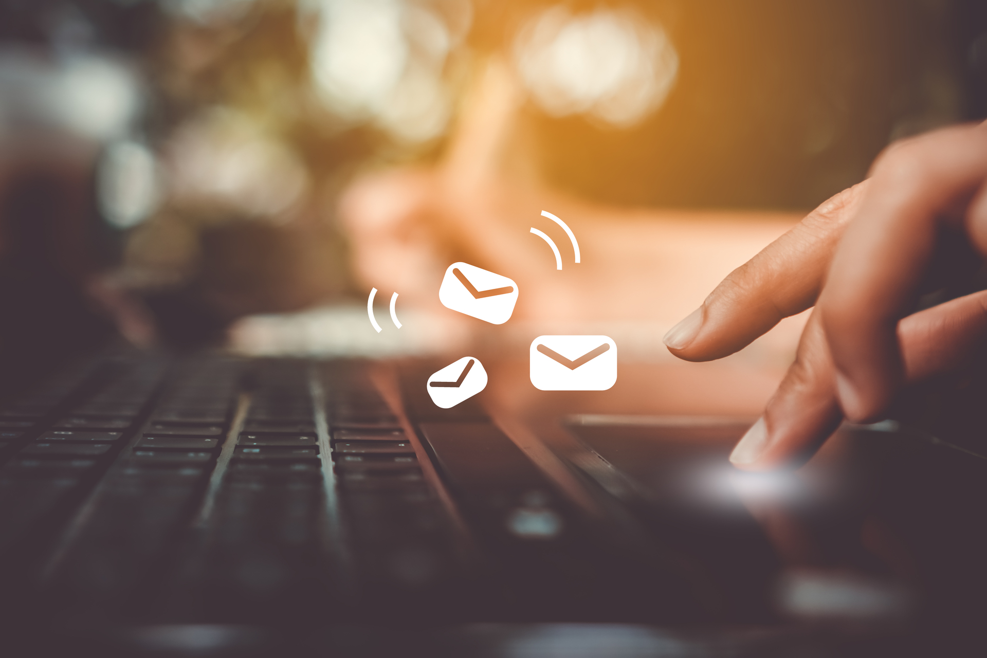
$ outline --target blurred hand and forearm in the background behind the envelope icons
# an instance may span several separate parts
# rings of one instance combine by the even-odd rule
[[[343,190],[338,216],[364,291],[401,293],[403,307],[478,329],[442,307],[449,263],[509,276],[523,292],[519,322],[647,322],[669,326],[762,245],[800,219],[793,213],[629,208],[569,195],[538,175],[524,91],[499,57],[482,65],[464,97],[442,159],[433,166],[369,172]],[[561,217],[569,237],[540,216]],[[559,271],[540,227],[562,250]],[[480,330],[480,329],[478,329]],[[557,329],[553,329],[557,330]]]

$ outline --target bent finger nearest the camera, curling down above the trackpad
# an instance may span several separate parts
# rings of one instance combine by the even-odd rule
[[[898,321],[957,200],[987,177],[987,127],[957,126],[890,149],[836,249],[818,307],[848,418],[876,416],[902,381]],[[952,221],[950,219],[949,221]]]

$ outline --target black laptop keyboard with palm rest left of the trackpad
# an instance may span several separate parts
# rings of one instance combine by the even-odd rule
[[[708,617],[690,576],[579,509],[479,407],[412,387],[403,421],[371,369],[128,352],[3,407],[0,615]]]

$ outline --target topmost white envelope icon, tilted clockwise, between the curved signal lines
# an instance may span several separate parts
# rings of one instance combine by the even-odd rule
[[[445,270],[438,299],[447,309],[502,325],[514,312],[517,284],[481,267],[454,262]]]

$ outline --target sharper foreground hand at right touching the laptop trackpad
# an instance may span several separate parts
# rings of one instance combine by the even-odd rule
[[[904,384],[968,360],[987,332],[987,291],[913,311],[987,256],[985,181],[987,123],[899,141],[665,335],[680,358],[718,359],[815,306],[736,466],[803,461],[843,418],[879,419]]]

